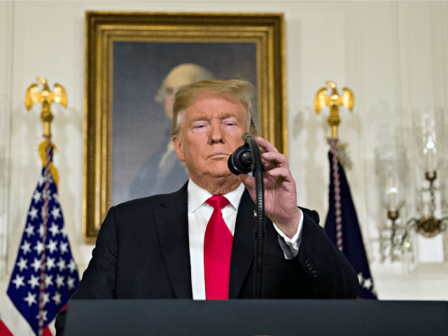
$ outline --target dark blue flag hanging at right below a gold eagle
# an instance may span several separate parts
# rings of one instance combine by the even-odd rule
[[[337,244],[336,237],[336,206],[335,206],[335,181],[332,174],[332,153],[328,153],[330,160],[330,195],[325,232],[333,244]],[[359,291],[358,297],[363,299],[376,299],[373,279],[370,275],[369,263],[363,244],[363,236],[359,228],[355,206],[351,199],[349,183],[347,183],[344,168],[338,163],[340,202],[342,216],[342,252],[346,255],[351,266],[358,273]]]

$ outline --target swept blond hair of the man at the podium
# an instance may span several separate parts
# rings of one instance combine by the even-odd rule
[[[176,92],[173,105],[172,135],[179,135],[183,121],[183,112],[197,99],[206,97],[222,97],[235,99],[244,106],[246,125],[249,132],[255,137],[255,123],[252,118],[252,102],[254,87],[245,80],[202,80],[197,83],[185,85]]]

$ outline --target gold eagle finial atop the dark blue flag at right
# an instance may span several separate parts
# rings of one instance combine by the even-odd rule
[[[336,90],[336,84],[334,82],[328,81],[328,87],[330,87],[331,93],[327,96],[328,87],[321,87],[316,94],[316,99],[314,101],[314,107],[316,109],[316,113],[319,113],[321,109],[325,106],[330,106],[330,117],[328,118],[328,123],[331,126],[331,137],[337,138],[337,127],[339,123],[341,123],[341,119],[339,118],[339,106],[345,106],[350,111],[353,110],[353,92],[344,87],[342,90],[344,91],[343,96],[339,96]]]

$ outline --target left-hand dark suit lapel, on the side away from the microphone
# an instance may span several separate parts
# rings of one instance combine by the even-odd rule
[[[154,218],[169,279],[177,298],[191,299],[187,184],[162,203],[165,208],[155,211]]]

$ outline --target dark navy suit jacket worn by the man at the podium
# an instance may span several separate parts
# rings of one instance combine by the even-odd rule
[[[176,193],[112,207],[104,220],[76,299],[193,298],[188,244],[187,183]],[[229,298],[253,297],[255,203],[247,190],[239,204],[230,262]],[[318,225],[304,214],[299,254],[286,260],[266,217],[265,298],[356,298],[358,276]],[[64,325],[64,312],[56,320]]]

